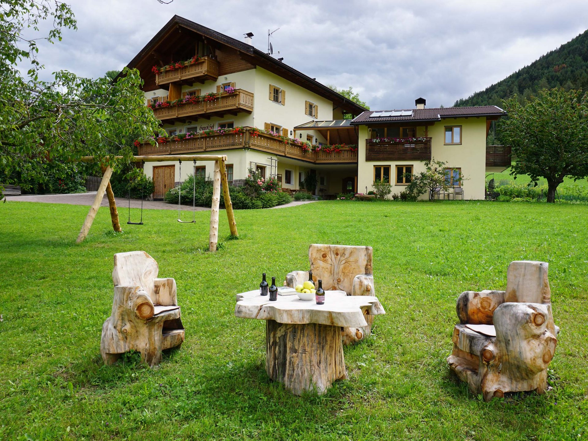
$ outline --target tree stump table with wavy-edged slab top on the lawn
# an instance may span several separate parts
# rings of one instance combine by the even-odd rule
[[[373,296],[326,291],[325,304],[281,296],[271,302],[259,290],[237,295],[235,316],[266,320],[265,369],[295,395],[326,392],[346,379],[341,328],[367,326],[365,316],[385,314]]]

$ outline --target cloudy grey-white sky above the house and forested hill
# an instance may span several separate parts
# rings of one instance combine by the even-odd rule
[[[121,69],[178,14],[234,38],[268,29],[284,62],[325,84],[353,86],[372,109],[450,106],[588,27],[585,0],[71,0],[78,31],[42,48],[50,74]]]

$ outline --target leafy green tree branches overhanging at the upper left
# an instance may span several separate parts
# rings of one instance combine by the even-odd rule
[[[44,22],[52,22],[40,35]],[[58,0],[8,0],[0,5],[0,176],[8,183],[42,183],[47,169],[93,155],[122,155],[148,138],[159,121],[146,108],[139,72],[117,82],[67,71],[42,81],[38,42],[54,43],[76,29],[71,8]],[[28,72],[18,68],[28,64]],[[112,162],[112,161],[111,161]]]

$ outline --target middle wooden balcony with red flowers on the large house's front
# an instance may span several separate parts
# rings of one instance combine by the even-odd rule
[[[160,107],[153,109],[153,115],[161,121],[211,116],[224,116],[226,113],[253,112],[253,93],[236,89],[234,93],[221,93],[215,101],[203,101],[196,104]]]

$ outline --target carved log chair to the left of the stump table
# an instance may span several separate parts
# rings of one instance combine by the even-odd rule
[[[145,251],[114,255],[114,301],[102,326],[100,352],[106,365],[129,350],[154,366],[162,350],[181,346],[184,329],[174,279],[159,279],[155,259]]]

